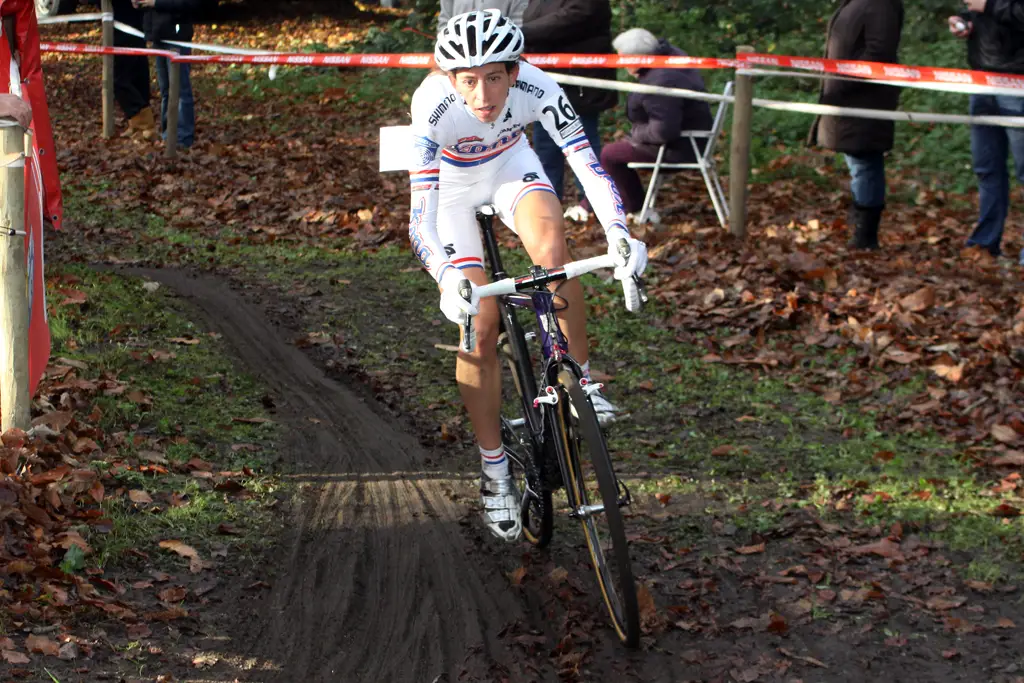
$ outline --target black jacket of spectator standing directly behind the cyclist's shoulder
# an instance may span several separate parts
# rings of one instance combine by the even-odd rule
[[[610,54],[611,6],[608,0],[530,0],[522,17],[526,52]],[[614,69],[551,69],[553,73],[615,80]],[[598,114],[618,103],[614,90],[562,88],[581,114]]]

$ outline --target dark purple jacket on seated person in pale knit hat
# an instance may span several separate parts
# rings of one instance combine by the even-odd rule
[[[668,41],[658,42],[654,54],[686,56]],[[637,77],[643,85],[665,88],[684,88],[707,92],[703,78],[695,69],[642,69]],[[669,95],[651,95],[634,92],[626,102],[626,115],[632,125],[630,141],[651,154],[667,144],[666,161],[691,161],[693,147],[689,140],[680,137],[684,130],[709,130],[713,120],[708,102]],[[700,144],[703,148],[703,144]]]

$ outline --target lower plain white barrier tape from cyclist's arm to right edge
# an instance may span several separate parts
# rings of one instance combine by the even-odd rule
[[[559,83],[569,85],[583,85],[592,88],[604,88],[607,90],[621,90],[623,92],[645,92],[654,95],[668,95],[670,97],[686,97],[688,99],[700,99],[709,102],[734,102],[733,96],[716,95],[710,92],[698,90],[686,90],[684,88],[664,88],[656,85],[643,85],[641,83],[623,83],[620,81],[608,81],[600,78],[584,78],[582,76],[568,76],[566,74],[548,73],[551,78]],[[932,114],[930,112],[888,112],[884,110],[857,109],[852,106],[833,106],[830,104],[811,104],[805,102],[784,102],[776,99],[754,98],[754,105],[777,112],[797,112],[799,114],[812,114],[815,116],[848,116],[856,119],[876,119],[879,121],[903,121],[909,123],[956,123],[974,126],[1000,126],[1004,128],[1024,128],[1024,117],[1012,116],[963,116],[959,114]]]

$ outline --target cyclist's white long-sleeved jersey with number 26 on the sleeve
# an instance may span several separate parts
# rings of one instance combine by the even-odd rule
[[[410,170],[409,237],[413,251],[434,280],[440,282],[443,272],[455,267],[437,232],[442,187],[474,185],[496,177],[506,161],[523,146],[528,148],[526,126],[535,122],[561,146],[605,232],[622,229],[628,234],[622,198],[594,156],[580,118],[558,83],[537,67],[520,62],[505,111],[494,123],[477,119],[444,74],[424,79],[413,95],[412,115],[415,154]],[[529,189],[528,183],[523,189]]]

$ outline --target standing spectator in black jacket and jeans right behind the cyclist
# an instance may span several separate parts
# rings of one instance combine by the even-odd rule
[[[611,6],[608,0],[530,0],[522,20],[526,51],[537,53],[607,54],[611,52]],[[586,27],[586,29],[583,29]],[[571,74],[589,78],[615,80],[614,69],[552,69],[552,73]],[[618,103],[614,90],[564,86],[569,103],[580,116],[594,155],[601,156],[601,134],[598,123],[601,112]],[[541,166],[562,199],[565,177],[565,156],[541,126],[534,126],[534,150]],[[575,179],[580,206],[570,207],[567,218],[585,221],[590,205],[583,185]]]

